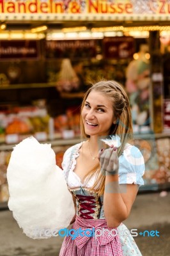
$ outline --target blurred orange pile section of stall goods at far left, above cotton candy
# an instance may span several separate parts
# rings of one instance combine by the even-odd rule
[[[13,107],[8,113],[2,111],[0,113],[0,141],[10,143],[10,140],[6,140],[6,136],[9,138],[13,134],[17,134],[19,141],[24,138],[23,136],[30,136],[37,132],[48,134],[49,118],[47,109],[37,106]]]

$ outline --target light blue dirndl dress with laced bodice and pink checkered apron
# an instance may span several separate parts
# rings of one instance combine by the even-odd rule
[[[137,244],[123,223],[114,228],[114,233],[111,235],[112,230],[107,226],[104,216],[104,198],[103,196],[98,196],[96,191],[91,189],[95,177],[92,177],[85,185],[81,183],[79,176],[73,172],[81,145],[82,143],[79,143],[68,148],[62,163],[63,175],[68,184],[68,189],[76,198],[77,213],[72,230],[70,230],[71,235],[65,237],[59,256],[141,256]],[[124,154],[119,159],[120,184],[134,183],[142,185],[143,158],[140,155],[141,165],[139,166],[138,164],[137,170],[139,172],[136,175],[134,164],[127,161],[130,148],[129,146],[125,147],[126,151],[124,150]],[[134,161],[134,156],[132,161]],[[129,166],[128,163],[132,166]],[[131,173],[128,174],[127,170],[128,172],[131,170]],[[125,176],[122,176],[124,173],[127,174],[126,180]],[[80,229],[81,233],[78,232]],[[104,229],[109,231],[103,232]],[[96,231],[100,233],[100,236]]]

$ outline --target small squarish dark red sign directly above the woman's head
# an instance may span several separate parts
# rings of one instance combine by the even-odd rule
[[[134,38],[132,36],[105,37],[103,39],[104,57],[109,59],[132,58]]]

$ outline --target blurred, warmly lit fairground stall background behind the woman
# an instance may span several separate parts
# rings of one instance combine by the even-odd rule
[[[56,164],[61,166],[66,148],[80,141],[84,92],[95,81],[113,79],[128,93],[132,143],[146,164],[144,186],[132,209],[133,218],[141,220],[135,227],[149,227],[148,220],[155,214],[153,222],[165,228],[166,243],[169,226],[165,223],[170,222],[170,2],[1,0],[0,10],[1,234],[4,230],[9,234],[8,228],[16,225],[8,211],[6,180],[13,145],[33,135],[42,143],[51,143]],[[141,206],[145,218],[139,216]],[[132,222],[128,224],[135,228]],[[21,230],[17,232],[17,236],[11,234],[12,239]],[[3,249],[8,238],[2,235],[0,255],[56,255],[45,249],[26,254],[22,252],[24,240],[9,242]],[[150,242],[145,238],[137,237],[143,255],[168,255],[166,246],[160,245],[161,237],[150,238]],[[26,244],[36,248],[31,241]],[[148,246],[159,250],[147,254]]]

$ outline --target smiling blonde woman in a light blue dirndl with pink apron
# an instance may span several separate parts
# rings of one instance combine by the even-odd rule
[[[141,255],[122,223],[143,185],[144,160],[128,143],[132,119],[120,84],[100,81],[89,88],[82,101],[81,132],[86,140],[66,150],[62,167],[76,205],[73,232],[81,228],[84,234],[66,236],[59,256]],[[100,149],[100,139],[111,134],[120,136],[121,146]],[[91,236],[93,228],[100,236]],[[102,233],[104,228],[114,235]]]

